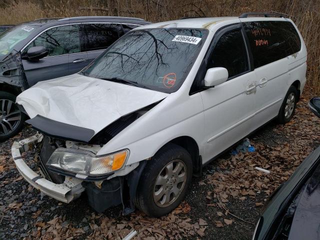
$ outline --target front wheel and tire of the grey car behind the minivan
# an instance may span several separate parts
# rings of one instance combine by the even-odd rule
[[[20,107],[15,104],[15,98],[12,93],[0,91],[0,141],[18,133],[26,118]]]

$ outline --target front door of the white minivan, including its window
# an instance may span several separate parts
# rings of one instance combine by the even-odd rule
[[[226,27],[215,38],[206,68],[224,67],[228,79],[200,92],[205,129],[203,162],[246,136],[252,130],[254,115],[256,82],[240,26]]]

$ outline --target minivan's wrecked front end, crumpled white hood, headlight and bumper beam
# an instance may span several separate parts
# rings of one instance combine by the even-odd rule
[[[167,95],[80,74],[38,82],[16,98],[30,117],[26,122],[40,132],[14,142],[17,168],[58,200],[69,202],[85,191],[98,212],[122,203],[124,214],[130,213],[146,160],[127,163],[129,149],[106,148]],[[41,176],[21,158],[31,145]]]

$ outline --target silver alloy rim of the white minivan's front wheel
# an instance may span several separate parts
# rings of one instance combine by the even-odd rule
[[[186,174],[185,164],[178,159],[162,168],[153,188],[153,200],[157,206],[166,207],[179,197],[186,182]]]

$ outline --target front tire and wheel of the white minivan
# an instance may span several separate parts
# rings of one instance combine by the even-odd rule
[[[190,154],[176,144],[165,145],[143,169],[135,196],[136,207],[154,217],[169,213],[184,199],[191,178]],[[156,180],[161,184],[156,184]]]

